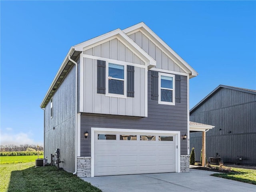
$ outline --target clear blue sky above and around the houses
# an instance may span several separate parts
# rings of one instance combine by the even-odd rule
[[[256,90],[255,1],[1,1],[1,144],[43,144],[39,105],[71,46],[144,22],[199,75],[190,108],[219,84]]]

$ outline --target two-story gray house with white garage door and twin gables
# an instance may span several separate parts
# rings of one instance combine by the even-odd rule
[[[44,157],[80,177],[188,171],[194,76],[143,22],[72,46],[40,105]]]

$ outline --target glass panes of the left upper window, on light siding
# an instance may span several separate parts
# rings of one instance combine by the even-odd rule
[[[124,95],[124,66],[108,64],[108,93]]]

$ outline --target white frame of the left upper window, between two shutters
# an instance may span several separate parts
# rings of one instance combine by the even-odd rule
[[[119,79],[119,78],[111,78],[113,80],[122,80],[124,81],[124,94],[120,95],[120,94],[114,94],[114,93],[108,93],[108,65],[109,63],[111,64],[116,64],[116,65],[122,65],[124,66],[124,80],[123,79]],[[126,64],[120,64],[118,61],[117,62],[106,62],[106,96],[108,97],[118,97],[118,98],[127,98],[126,94],[127,94],[127,65]]]

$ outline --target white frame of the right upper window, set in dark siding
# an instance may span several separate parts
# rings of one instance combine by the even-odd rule
[[[172,89],[161,88],[161,76],[172,77]],[[161,89],[172,90],[172,102],[161,101]],[[175,75],[168,73],[158,73],[158,104],[175,105]]]

